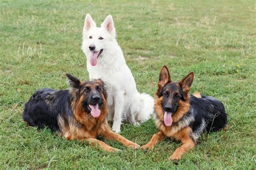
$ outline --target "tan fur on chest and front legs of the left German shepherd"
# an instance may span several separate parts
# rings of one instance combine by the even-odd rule
[[[75,92],[72,91],[72,93],[72,95],[75,95]],[[86,140],[91,145],[98,145],[107,152],[118,150],[105,144],[103,141],[97,140],[96,138],[98,136],[103,136],[106,139],[119,141],[123,145],[132,147],[134,149],[139,148],[139,145],[120,136],[120,134],[111,131],[106,119],[107,104],[106,98],[103,94],[103,105],[100,108],[100,116],[98,118],[93,118],[84,110],[84,108],[82,107],[82,102],[84,98],[85,94],[82,94],[80,97],[77,97],[77,100],[71,102],[71,110],[73,112],[73,116],[70,119],[64,119],[60,116],[58,117],[58,124],[61,130],[59,134],[61,136],[68,140]]]

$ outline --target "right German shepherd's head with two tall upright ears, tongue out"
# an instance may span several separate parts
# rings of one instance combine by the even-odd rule
[[[171,126],[173,122],[179,121],[188,111],[188,93],[193,79],[194,73],[191,72],[181,81],[172,82],[168,68],[166,66],[161,68],[156,93],[156,112],[166,126]]]

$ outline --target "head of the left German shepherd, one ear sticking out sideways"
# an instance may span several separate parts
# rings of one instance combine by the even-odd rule
[[[93,118],[98,118],[101,114],[106,116],[107,93],[104,82],[100,79],[80,82],[70,74],[66,76],[70,84],[71,109],[76,118],[84,117],[84,113]]]

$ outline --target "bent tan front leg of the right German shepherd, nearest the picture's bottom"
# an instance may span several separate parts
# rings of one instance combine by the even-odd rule
[[[173,154],[169,158],[170,160],[180,160],[181,155],[192,150],[192,148],[196,146],[194,140],[190,138],[190,131],[191,128],[185,128],[174,135],[176,139],[181,140],[182,145],[173,152]]]

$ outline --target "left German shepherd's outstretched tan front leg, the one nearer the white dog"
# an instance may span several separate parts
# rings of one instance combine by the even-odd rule
[[[138,149],[140,146],[132,141],[126,139],[125,137],[121,136],[120,134],[112,132],[110,129],[107,129],[103,134],[103,137],[110,140],[116,140],[122,143],[124,146],[132,147],[134,149]]]

